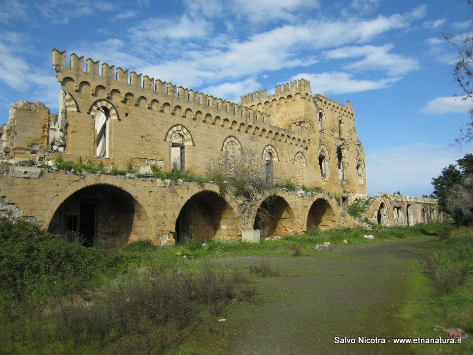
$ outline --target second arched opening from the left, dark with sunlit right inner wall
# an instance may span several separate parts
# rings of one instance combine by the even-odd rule
[[[176,243],[184,243],[187,238],[232,239],[235,233],[235,214],[227,201],[213,191],[201,191],[187,200],[175,224]]]

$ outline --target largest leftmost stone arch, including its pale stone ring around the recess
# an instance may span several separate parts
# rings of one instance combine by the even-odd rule
[[[76,230],[80,232],[82,203],[85,204],[83,213],[88,213],[88,220],[84,221],[86,224],[92,224],[90,219],[94,217],[90,212],[96,213],[97,246],[119,248],[135,240],[154,239],[156,228],[151,223],[154,215],[146,198],[127,180],[106,175],[87,176],[60,191],[45,211],[44,225],[52,232],[71,237],[65,223],[68,222],[68,214],[76,215]],[[97,221],[102,214],[104,218]],[[110,215],[115,216],[116,220],[110,221]]]

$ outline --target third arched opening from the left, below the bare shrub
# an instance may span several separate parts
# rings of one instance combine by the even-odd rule
[[[294,213],[287,201],[281,196],[272,195],[258,208],[253,229],[261,231],[261,238],[286,235],[291,233],[293,221]]]

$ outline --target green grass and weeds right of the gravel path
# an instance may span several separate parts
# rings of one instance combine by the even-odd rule
[[[419,354],[473,354],[473,229],[452,229],[451,232],[453,236],[444,249],[415,266],[410,284],[411,299],[404,315],[412,320],[409,337],[448,337],[436,327],[440,325],[461,328],[470,334],[470,339],[464,340],[462,345],[419,347]],[[460,280],[456,277],[458,270],[465,267],[468,272]]]

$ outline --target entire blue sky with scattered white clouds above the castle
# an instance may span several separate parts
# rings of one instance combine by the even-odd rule
[[[57,47],[239,103],[304,77],[352,102],[368,192],[423,195],[472,152],[449,144],[471,102],[442,33],[472,31],[466,0],[0,1],[0,124],[18,100],[57,111]]]

